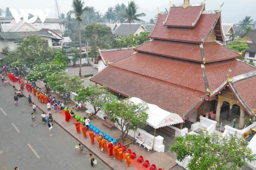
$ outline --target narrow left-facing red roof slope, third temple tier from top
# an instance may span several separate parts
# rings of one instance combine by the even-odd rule
[[[134,48],[134,50],[177,59],[202,62],[199,44],[195,43],[153,40]]]

